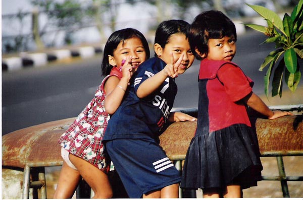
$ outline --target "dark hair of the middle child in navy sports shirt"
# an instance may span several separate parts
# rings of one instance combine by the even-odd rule
[[[162,48],[169,42],[171,35],[183,33],[187,35],[189,24],[184,20],[167,20],[159,24],[156,30],[155,44],[158,43]],[[158,55],[155,53],[155,57]]]

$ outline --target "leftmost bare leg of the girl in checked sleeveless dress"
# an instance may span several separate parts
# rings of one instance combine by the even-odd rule
[[[81,176],[79,171],[69,167],[66,162],[63,161],[54,198],[71,198],[80,180]]]

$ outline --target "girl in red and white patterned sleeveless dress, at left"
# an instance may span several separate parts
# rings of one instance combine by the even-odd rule
[[[54,198],[71,198],[81,177],[94,191],[94,198],[112,197],[107,176],[111,161],[104,152],[104,132],[110,114],[123,100],[132,74],[148,58],[148,43],[136,29],[122,29],[109,37],[101,66],[106,77],[59,139],[64,162]]]

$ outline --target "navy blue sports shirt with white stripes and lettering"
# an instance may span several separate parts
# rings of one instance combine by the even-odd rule
[[[139,66],[125,99],[108,122],[104,141],[146,136],[158,138],[173,107],[177,85],[173,78],[168,77],[154,93],[145,98],[138,98],[136,92],[144,80],[163,70],[165,65],[162,59],[153,57]]]

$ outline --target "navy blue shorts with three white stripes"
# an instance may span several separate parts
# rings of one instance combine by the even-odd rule
[[[130,198],[181,180],[180,172],[151,138],[116,139],[105,145]]]

